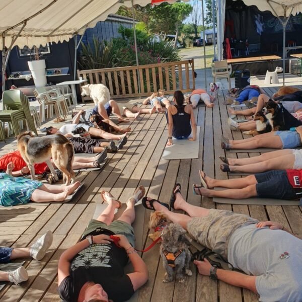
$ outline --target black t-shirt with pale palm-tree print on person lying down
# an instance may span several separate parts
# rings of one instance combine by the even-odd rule
[[[89,246],[72,259],[70,275],[58,287],[60,298],[66,302],[77,301],[82,286],[93,281],[101,284],[114,302],[128,300],[134,289],[124,273],[127,262],[125,250],[114,243]]]

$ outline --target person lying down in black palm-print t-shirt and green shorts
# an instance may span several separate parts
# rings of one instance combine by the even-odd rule
[[[106,209],[89,222],[82,240],[59,259],[58,290],[63,301],[125,301],[147,281],[147,267],[133,248],[131,226],[134,205],[144,193],[144,187],[138,187],[117,220],[114,211],[121,206],[120,201],[107,191],[101,193],[108,204]],[[125,274],[124,266],[129,260],[133,272]]]

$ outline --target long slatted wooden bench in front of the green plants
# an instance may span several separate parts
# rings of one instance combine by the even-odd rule
[[[195,89],[193,59],[77,72],[78,77],[87,79],[89,84],[107,86],[113,99],[149,96],[160,89],[166,90],[166,95],[173,94],[175,90],[190,92]]]

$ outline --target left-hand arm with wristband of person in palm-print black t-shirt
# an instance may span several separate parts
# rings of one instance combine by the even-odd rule
[[[113,241],[108,235],[97,235],[93,236],[93,243],[102,244],[102,243],[110,243]],[[67,277],[70,275],[69,269],[70,269],[70,263],[71,260],[75,257],[75,255],[79,254],[84,249],[88,248],[90,245],[88,239],[82,240],[75,244],[74,246],[67,249],[63,254],[61,255],[58,263],[58,285]]]

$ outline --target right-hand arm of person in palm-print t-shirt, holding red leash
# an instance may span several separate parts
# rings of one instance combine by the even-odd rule
[[[133,273],[128,274],[134,291],[142,286],[148,279],[148,269],[143,260],[137,254],[135,249],[130,245],[127,238],[123,235],[115,235],[120,238],[118,245],[125,249],[129,260],[133,266]]]

